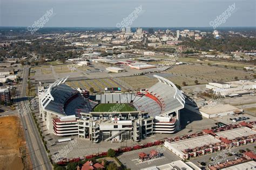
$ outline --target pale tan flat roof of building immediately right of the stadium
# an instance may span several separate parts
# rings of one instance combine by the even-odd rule
[[[214,106],[209,107],[203,107],[200,108],[201,112],[207,113],[207,114],[218,114],[218,113],[224,113],[224,112],[233,112],[235,110],[239,110],[238,107],[228,105],[228,104],[217,104]]]

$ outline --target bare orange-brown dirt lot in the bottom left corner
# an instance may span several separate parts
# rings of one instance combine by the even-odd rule
[[[30,169],[19,118],[0,118],[0,169]],[[23,159],[22,159],[23,158]],[[23,161],[26,162],[23,164]]]

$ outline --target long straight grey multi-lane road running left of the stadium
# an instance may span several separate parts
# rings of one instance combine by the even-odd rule
[[[33,169],[52,169],[52,165],[45,151],[42,139],[37,130],[36,124],[30,113],[30,103],[26,99],[26,86],[29,77],[29,66],[24,66],[22,84],[18,86],[17,107],[20,110],[19,118],[21,118],[24,129],[26,144],[29,149],[29,155]]]

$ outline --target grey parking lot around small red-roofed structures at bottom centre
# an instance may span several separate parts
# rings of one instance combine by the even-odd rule
[[[159,158],[141,162],[139,160],[139,153],[144,152],[146,154],[149,154],[152,149],[155,149],[156,151],[163,154],[161,154],[161,157]],[[175,154],[170,152],[164,146],[153,146],[149,148],[139,149],[137,151],[125,152],[119,155],[118,159],[126,167],[129,167],[131,169],[142,169],[142,168],[151,167],[151,166],[159,166],[159,165],[164,165],[173,161],[180,160],[179,157],[177,157]]]

